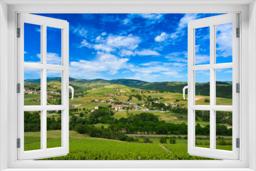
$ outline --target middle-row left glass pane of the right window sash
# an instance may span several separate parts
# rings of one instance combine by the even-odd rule
[[[195,71],[196,105],[210,105],[210,70]]]

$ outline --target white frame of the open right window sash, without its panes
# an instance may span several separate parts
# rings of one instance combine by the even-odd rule
[[[232,62],[216,63],[216,26],[232,24]],[[207,18],[195,19],[188,22],[188,153],[194,156],[212,157],[217,159],[239,159],[239,148],[236,147],[236,139],[239,138],[239,94],[236,92],[236,83],[239,83],[239,38],[236,37],[239,28],[239,14],[230,13]],[[196,34],[195,30],[209,27],[209,64],[196,65]],[[216,105],[216,69],[232,68],[232,105]],[[210,104],[196,105],[196,72],[208,70],[210,72]],[[196,142],[196,110],[210,112],[210,148],[197,147]],[[232,112],[232,151],[216,149],[216,111]]]

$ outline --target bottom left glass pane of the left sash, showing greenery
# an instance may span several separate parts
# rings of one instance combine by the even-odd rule
[[[41,149],[40,111],[24,112],[24,151]]]

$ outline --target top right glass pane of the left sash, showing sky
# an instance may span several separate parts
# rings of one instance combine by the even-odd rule
[[[47,64],[61,65],[61,29],[47,27]]]

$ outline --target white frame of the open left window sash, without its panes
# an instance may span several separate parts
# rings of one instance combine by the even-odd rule
[[[40,63],[24,62],[24,23],[41,27]],[[61,29],[61,65],[49,65],[47,63],[47,27]],[[17,83],[20,84],[20,93],[17,94],[17,138],[20,139],[20,148],[17,148],[17,159],[42,159],[67,155],[69,153],[69,23],[66,20],[56,18],[18,13],[17,28],[20,28],[20,37],[17,38]],[[25,69],[40,70],[40,105],[24,105]],[[47,70],[61,72],[60,105],[47,105]],[[47,111],[56,110],[61,110],[61,146],[47,148]],[[24,151],[25,111],[40,111],[40,149]]]

